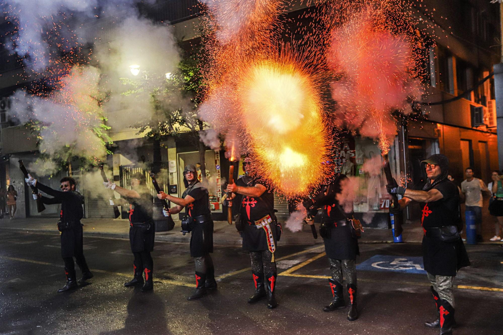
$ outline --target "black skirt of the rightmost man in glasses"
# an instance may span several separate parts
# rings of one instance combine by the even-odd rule
[[[437,237],[423,237],[425,270],[435,276],[454,277],[459,269],[470,265],[463,240],[447,243]]]

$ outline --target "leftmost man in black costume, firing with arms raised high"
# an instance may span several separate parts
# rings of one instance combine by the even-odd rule
[[[53,198],[47,198],[40,194],[34,194],[33,199],[42,199],[46,205],[61,204],[60,219],[58,229],[61,232],[61,257],[64,261],[64,272],[66,275],[66,285],[58,290],[59,293],[78,287],[75,263],[73,257],[82,272],[80,281],[86,281],[93,278],[93,274],[89,271],[86,263],[86,258],[83,253],[83,235],[82,224],[80,219],[84,216],[82,203],[84,198],[80,193],[75,191],[76,183],[73,178],[64,177],[61,179],[61,191],[56,191],[48,186],[45,186],[36,179],[28,175],[25,181],[28,185],[33,185]]]

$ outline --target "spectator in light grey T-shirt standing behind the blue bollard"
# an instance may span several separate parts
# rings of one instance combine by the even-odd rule
[[[489,190],[484,182],[473,177],[473,169],[467,167],[465,170],[466,179],[461,182],[461,192],[465,195],[465,212],[475,213],[475,225],[477,227],[477,242],[482,242],[482,191],[488,193]]]

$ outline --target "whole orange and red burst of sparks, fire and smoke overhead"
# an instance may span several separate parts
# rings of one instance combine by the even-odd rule
[[[307,2],[314,10],[292,32],[278,19],[279,2],[205,3],[212,62],[201,116],[226,136],[229,157],[241,144],[268,184],[296,197],[327,173],[332,126],[358,130],[387,153],[396,134],[392,112],[408,113],[423,93],[418,29],[428,27],[417,28],[420,3]],[[289,45],[280,42],[282,33],[291,34]],[[335,112],[326,108],[326,91]]]

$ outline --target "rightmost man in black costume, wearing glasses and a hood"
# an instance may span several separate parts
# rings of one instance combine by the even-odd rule
[[[421,203],[423,215],[423,263],[432,286],[437,309],[437,319],[426,322],[428,327],[440,327],[440,334],[452,334],[454,319],[453,282],[456,272],[470,265],[468,255],[459,237],[462,229],[459,208],[459,192],[456,185],[447,179],[449,160],[443,154],[434,154],[421,162],[426,169],[427,182],[422,190],[411,190],[387,185],[388,193],[403,196],[396,211],[402,210],[411,201]]]

